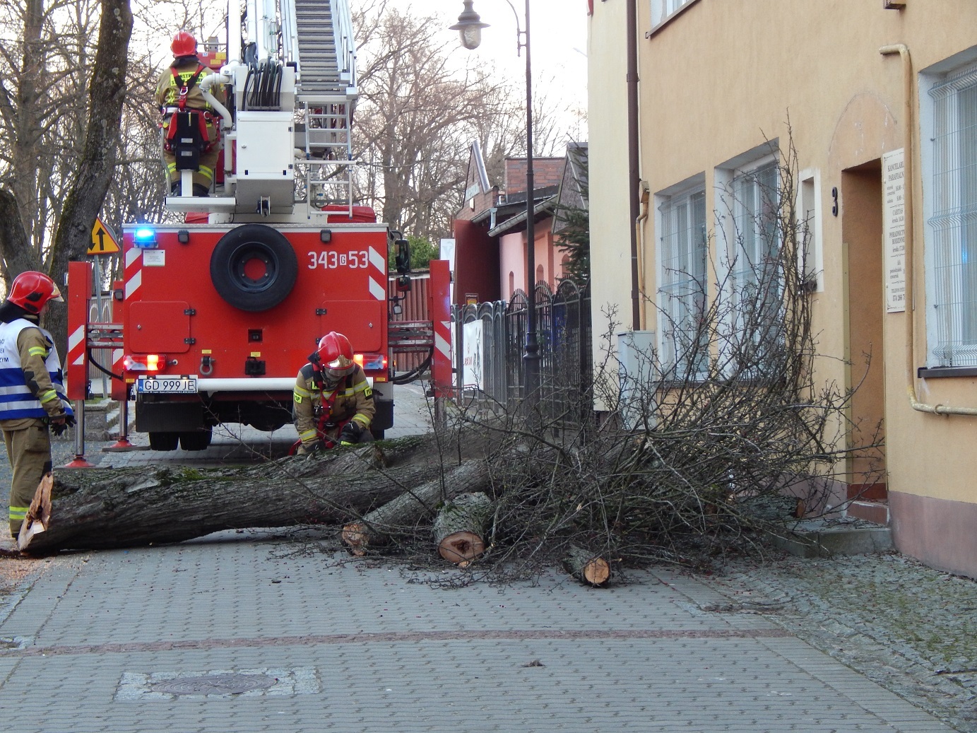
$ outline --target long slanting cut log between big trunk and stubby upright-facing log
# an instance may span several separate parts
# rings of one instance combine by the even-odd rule
[[[484,492],[490,485],[488,465],[484,460],[468,460],[446,471],[416,489],[408,489],[401,496],[364,514],[356,522],[343,527],[341,538],[350,552],[358,557],[370,545],[388,544],[394,537],[408,534],[417,524],[434,516],[442,501],[465,492]]]

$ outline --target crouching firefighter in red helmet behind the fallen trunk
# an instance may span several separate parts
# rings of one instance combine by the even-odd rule
[[[292,401],[301,444],[296,453],[373,440],[373,390],[342,333],[329,331],[319,339],[309,364],[299,369]]]

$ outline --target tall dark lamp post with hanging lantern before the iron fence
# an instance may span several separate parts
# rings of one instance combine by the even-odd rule
[[[532,173],[532,64],[530,57],[530,0],[526,0],[526,30],[519,27],[519,14],[510,0],[505,0],[516,17],[516,54],[526,49],[526,295],[529,299],[526,314],[526,351],[523,365],[526,367],[526,394],[535,403],[539,386],[539,343],[536,339],[536,227],[533,198]],[[482,43],[482,22],[479,14],[472,9],[474,0],[463,0],[465,9],[458,16],[458,22],[451,26],[461,35],[461,45],[472,50]]]

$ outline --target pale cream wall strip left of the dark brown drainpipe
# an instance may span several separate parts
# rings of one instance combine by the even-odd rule
[[[590,259],[594,361],[601,363],[607,316],[631,325],[631,226],[627,193],[625,6],[594,3],[588,38]],[[599,406],[601,407],[601,406]]]

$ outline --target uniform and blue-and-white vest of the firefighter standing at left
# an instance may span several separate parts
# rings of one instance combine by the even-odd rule
[[[30,501],[51,471],[48,424],[72,414],[51,334],[25,318],[0,323],[0,429],[14,469],[10,532],[21,531]]]

